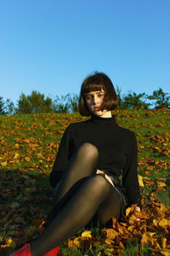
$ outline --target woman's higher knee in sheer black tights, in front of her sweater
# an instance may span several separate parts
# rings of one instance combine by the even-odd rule
[[[80,148],[78,148],[77,154],[86,159],[97,160],[99,157],[99,150],[91,143],[83,143]]]

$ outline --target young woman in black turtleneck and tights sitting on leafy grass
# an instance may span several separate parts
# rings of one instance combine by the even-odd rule
[[[27,254],[14,255],[57,255],[59,245],[82,227],[108,226],[134,203],[140,211],[137,140],[116,124],[111,115],[116,105],[116,91],[104,73],[83,81],[79,112],[90,119],[69,125],[61,139],[49,177],[55,204],[48,227],[27,246]]]

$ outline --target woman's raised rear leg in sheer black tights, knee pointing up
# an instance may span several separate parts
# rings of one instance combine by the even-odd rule
[[[54,191],[54,207],[48,217],[48,223],[65,207],[82,183],[89,176],[95,175],[98,156],[98,149],[90,143],[83,143],[71,156],[59,186]]]

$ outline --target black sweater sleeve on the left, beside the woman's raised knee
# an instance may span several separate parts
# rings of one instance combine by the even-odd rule
[[[71,157],[71,125],[69,125],[61,138],[59,144],[59,151],[54,161],[54,166],[52,172],[49,175],[49,182],[53,187],[61,179],[65,167],[68,164],[68,161]]]

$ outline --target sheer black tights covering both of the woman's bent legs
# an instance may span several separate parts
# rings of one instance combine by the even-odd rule
[[[98,149],[84,143],[72,155],[59,188],[48,227],[31,244],[31,255],[42,256],[94,220],[103,225],[120,218],[121,202],[105,177],[96,175]]]

